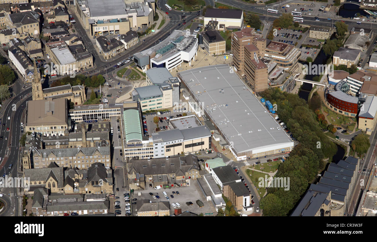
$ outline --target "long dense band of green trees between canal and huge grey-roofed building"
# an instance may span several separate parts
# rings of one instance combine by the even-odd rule
[[[260,202],[265,216],[287,216],[318,172],[325,168],[324,159],[331,160],[334,156],[336,145],[323,134],[317,123],[317,115],[296,94],[274,88],[262,92],[262,97],[277,104],[279,118],[300,142],[293,148],[288,159],[280,164],[275,175],[289,177],[290,189],[284,191],[284,188],[268,188],[267,196]],[[317,105],[311,104],[312,108]]]

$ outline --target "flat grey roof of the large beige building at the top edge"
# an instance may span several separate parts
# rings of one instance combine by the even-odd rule
[[[126,4],[123,0],[86,0],[89,5],[90,17],[126,14]]]

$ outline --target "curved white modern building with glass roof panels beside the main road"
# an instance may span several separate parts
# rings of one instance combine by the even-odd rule
[[[144,72],[153,67],[165,67],[169,71],[194,59],[198,51],[198,39],[188,30],[174,30],[170,36],[155,46],[133,55],[138,68]]]

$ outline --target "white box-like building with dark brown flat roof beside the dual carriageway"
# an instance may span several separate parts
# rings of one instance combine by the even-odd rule
[[[244,11],[240,9],[207,9],[204,16],[204,25],[209,21],[218,21],[218,30],[240,29],[244,23]]]

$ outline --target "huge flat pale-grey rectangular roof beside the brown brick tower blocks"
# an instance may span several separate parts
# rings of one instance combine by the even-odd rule
[[[259,153],[293,142],[228,65],[213,65],[178,73],[179,79],[204,104],[204,109],[237,153]]]

